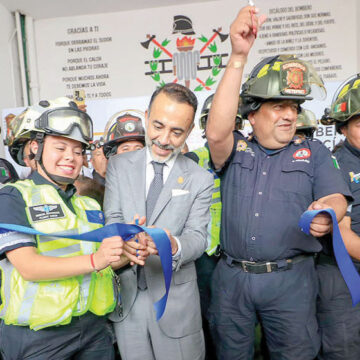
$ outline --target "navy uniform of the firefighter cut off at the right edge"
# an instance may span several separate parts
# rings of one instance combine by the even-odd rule
[[[360,236],[360,150],[345,140],[335,153],[354,202],[351,229]],[[354,262],[357,269],[360,263]],[[349,290],[337,267],[331,241],[324,244],[317,265],[319,276],[318,318],[321,330],[319,359],[360,359],[360,305],[353,307]]]

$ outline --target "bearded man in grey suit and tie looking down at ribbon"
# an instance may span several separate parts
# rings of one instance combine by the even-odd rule
[[[184,86],[156,90],[146,113],[146,147],[109,161],[106,223],[146,219],[147,226],[166,229],[173,255],[173,278],[159,322],[153,308],[165,291],[159,257],[152,255],[144,267],[120,273],[123,313],[113,313],[111,320],[123,360],[205,355],[194,260],[207,246],[213,179],[181,154],[196,107],[195,95]]]

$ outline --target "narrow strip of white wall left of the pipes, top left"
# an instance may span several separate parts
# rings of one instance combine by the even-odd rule
[[[22,105],[16,34],[13,36],[14,31],[14,16],[0,4],[0,110]],[[4,146],[1,140],[0,157],[3,156]]]

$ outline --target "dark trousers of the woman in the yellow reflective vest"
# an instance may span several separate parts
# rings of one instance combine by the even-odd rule
[[[105,317],[91,313],[69,325],[33,331],[27,326],[0,325],[4,360],[113,360],[113,336]]]

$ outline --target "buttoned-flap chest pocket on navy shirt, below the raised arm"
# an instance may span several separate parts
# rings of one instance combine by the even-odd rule
[[[238,196],[251,196],[256,176],[254,163],[255,157],[245,151],[237,151],[231,162],[228,182]]]

